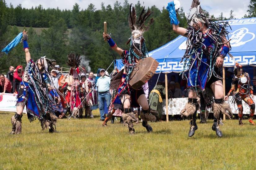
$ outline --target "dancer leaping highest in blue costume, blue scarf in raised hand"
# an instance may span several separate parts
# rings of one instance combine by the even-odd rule
[[[197,109],[199,108],[196,97],[203,92],[205,87],[208,87],[213,90],[215,97],[212,103],[214,115],[212,130],[216,132],[218,137],[222,137],[219,126],[221,114],[224,113],[228,118],[231,118],[226,112],[228,110],[231,113],[230,106],[223,102],[224,94],[221,77],[223,60],[230,50],[230,44],[226,39],[227,22],[216,23],[206,18],[204,11],[200,8],[200,3],[193,1],[190,14],[185,14],[188,20],[188,28],[185,29],[178,25],[175,11],[178,6],[176,5],[179,4],[169,2],[167,9],[173,31],[188,38],[186,53],[182,60],[185,60],[184,70],[186,67],[189,68],[187,77],[189,96],[188,103],[181,111],[182,115],[190,117],[191,120],[188,136],[193,136],[198,128],[195,122]],[[184,70],[183,76],[186,76]]]

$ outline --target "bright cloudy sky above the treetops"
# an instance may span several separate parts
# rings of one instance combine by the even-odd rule
[[[168,2],[171,0],[141,0],[140,3],[146,7],[151,7],[155,5],[158,9],[162,10],[163,7],[166,7]],[[245,14],[247,14],[248,5],[250,0],[199,0],[201,2],[201,6],[204,10],[208,11],[211,15],[214,15],[217,18],[220,13],[223,13],[223,16],[229,18],[230,10],[233,10],[233,14],[235,14],[235,18],[240,19]],[[88,5],[92,3],[95,5],[97,10],[101,9],[101,2],[104,2],[104,5],[111,5],[114,6],[116,0],[6,0],[7,5],[9,6],[10,3],[14,7],[21,3],[22,7],[24,8],[31,8],[32,6],[42,5],[43,8],[57,8],[59,9],[70,9],[72,10],[73,5],[75,3],[79,4],[80,10],[87,9]],[[123,5],[124,0],[118,0]],[[181,7],[184,8],[184,11],[188,13],[189,8],[191,6],[192,0],[180,0]],[[128,0],[128,3],[137,4],[137,0]]]

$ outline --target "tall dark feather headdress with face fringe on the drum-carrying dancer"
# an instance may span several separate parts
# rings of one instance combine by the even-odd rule
[[[135,8],[134,8],[134,6],[132,6],[132,4],[130,5],[130,15],[128,18],[128,22],[129,22],[130,29],[132,31],[132,36],[129,39],[129,41],[126,43],[126,44],[128,44],[131,41],[132,54],[135,54],[133,52],[133,48],[136,48],[137,51],[139,51],[139,53],[141,54],[141,57],[143,57],[143,58],[145,58],[146,54],[147,54],[143,33],[148,31],[149,26],[154,22],[154,19],[151,18],[150,21],[148,22],[147,26],[144,25],[146,20],[154,12],[151,12],[150,10],[148,10],[145,14],[144,13],[145,13],[145,6],[143,7],[143,9],[137,19]],[[137,55],[136,55],[136,57],[137,57]]]

